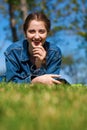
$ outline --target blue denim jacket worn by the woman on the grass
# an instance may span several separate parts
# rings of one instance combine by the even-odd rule
[[[62,59],[59,47],[46,41],[44,48],[47,51],[46,64],[36,69],[30,62],[26,39],[10,45],[5,52],[6,82],[30,83],[32,77],[59,74]]]

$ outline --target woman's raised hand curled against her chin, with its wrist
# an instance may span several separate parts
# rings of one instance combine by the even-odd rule
[[[43,46],[35,47],[33,49],[33,56],[35,57],[35,65],[37,68],[39,68],[46,57],[46,51]]]

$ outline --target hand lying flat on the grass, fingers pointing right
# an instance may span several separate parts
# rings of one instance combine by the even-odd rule
[[[56,74],[45,74],[34,78],[32,80],[32,83],[42,83],[46,85],[61,84],[60,81],[54,79],[59,77],[60,75],[56,75]]]

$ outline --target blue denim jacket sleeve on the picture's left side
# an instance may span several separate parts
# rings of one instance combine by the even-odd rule
[[[8,55],[5,53],[6,61],[6,82],[16,82],[16,83],[30,83],[31,76],[30,73],[24,74],[20,71],[20,65],[15,55],[12,53]]]

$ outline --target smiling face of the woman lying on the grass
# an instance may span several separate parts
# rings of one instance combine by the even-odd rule
[[[43,21],[32,20],[26,31],[26,37],[29,42],[29,48],[43,46],[47,37],[47,29]]]

